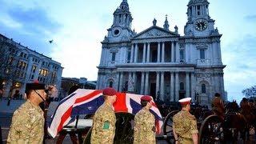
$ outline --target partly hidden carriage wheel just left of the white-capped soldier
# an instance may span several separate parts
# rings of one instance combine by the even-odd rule
[[[168,136],[174,136],[173,132],[173,117],[178,113],[178,110],[174,110],[167,115],[165,122],[163,123],[163,134],[167,136],[167,142],[172,143],[172,140]]]

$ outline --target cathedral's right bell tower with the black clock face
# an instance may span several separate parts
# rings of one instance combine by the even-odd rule
[[[214,30],[214,20],[210,18],[207,0],[190,0],[187,5],[186,36],[209,36]]]

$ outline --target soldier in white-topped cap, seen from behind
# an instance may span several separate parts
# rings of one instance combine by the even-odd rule
[[[191,98],[182,98],[178,102],[181,103],[182,110],[174,115],[174,138],[175,143],[181,144],[198,144],[198,128],[194,115],[190,114]]]

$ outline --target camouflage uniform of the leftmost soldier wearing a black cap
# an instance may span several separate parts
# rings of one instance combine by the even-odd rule
[[[27,100],[14,112],[7,143],[42,143],[44,121],[41,108]]]

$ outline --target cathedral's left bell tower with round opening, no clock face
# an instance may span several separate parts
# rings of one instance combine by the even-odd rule
[[[114,11],[113,25],[108,29],[105,39],[108,42],[120,42],[129,40],[134,32],[131,30],[133,20],[127,0],[122,0],[120,6]]]

